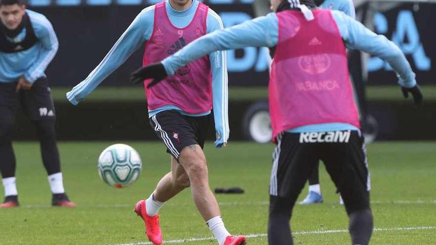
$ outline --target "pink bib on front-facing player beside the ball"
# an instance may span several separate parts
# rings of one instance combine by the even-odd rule
[[[172,25],[166,13],[165,1],[155,6],[153,33],[145,45],[144,66],[160,62],[195,39],[206,35],[209,7],[199,2],[194,18],[185,28]],[[158,85],[147,89],[151,80],[145,80],[148,109],[175,105],[192,114],[212,109],[212,73],[208,56],[179,68]]]

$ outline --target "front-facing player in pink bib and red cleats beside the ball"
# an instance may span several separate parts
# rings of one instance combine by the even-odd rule
[[[144,64],[158,62],[195,39],[222,29],[219,16],[198,0],[166,0],[145,8],[119,38],[104,60],[80,84],[67,93],[77,104],[141,45]],[[219,245],[244,245],[243,236],[231,236],[220,216],[218,202],[209,188],[203,146],[214,108],[217,141],[225,147],[229,136],[227,119],[227,67],[225,53],[205,53],[186,63],[173,76],[146,89],[150,123],[171,154],[171,171],[146,200],[136,204],[144,219],[147,237],[162,244],[159,209],[171,197],[191,187],[192,196]],[[137,79],[135,83],[143,82]],[[145,85],[151,81],[144,82]]]

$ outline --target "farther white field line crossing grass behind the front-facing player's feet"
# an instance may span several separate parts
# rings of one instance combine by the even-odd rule
[[[436,200],[386,200],[386,201],[371,201],[372,204],[436,204]],[[247,205],[269,205],[269,201],[244,201],[244,202],[219,202],[220,206],[247,206]],[[338,203],[339,204],[339,203]],[[165,206],[185,206],[186,203],[167,203]],[[119,208],[119,207],[134,207],[130,204],[97,204],[97,205],[79,205],[80,207],[97,207],[97,208]],[[22,205],[24,208],[49,208],[51,205]]]

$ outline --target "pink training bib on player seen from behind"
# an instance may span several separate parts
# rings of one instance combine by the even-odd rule
[[[277,13],[278,43],[269,93],[272,139],[286,130],[320,123],[360,128],[347,54],[329,10]]]

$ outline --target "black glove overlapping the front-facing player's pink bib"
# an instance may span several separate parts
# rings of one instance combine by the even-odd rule
[[[163,64],[159,62],[139,68],[138,70],[130,74],[130,81],[133,84],[138,84],[145,79],[153,79],[153,81],[147,85],[147,88],[150,88],[158,84],[162,79],[167,76],[168,74],[166,74]]]

